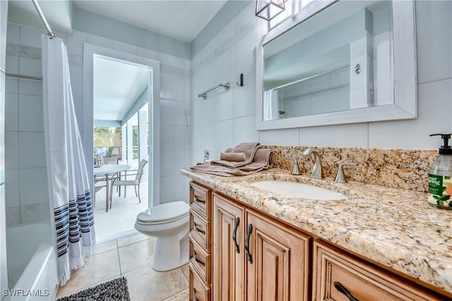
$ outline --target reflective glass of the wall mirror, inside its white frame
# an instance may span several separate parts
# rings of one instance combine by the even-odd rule
[[[393,104],[391,1],[339,1],[263,46],[263,120]]]

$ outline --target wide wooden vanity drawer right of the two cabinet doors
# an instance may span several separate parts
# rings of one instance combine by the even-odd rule
[[[312,300],[439,300],[415,283],[350,257],[323,242],[314,242]],[[340,290],[345,288],[346,292]]]

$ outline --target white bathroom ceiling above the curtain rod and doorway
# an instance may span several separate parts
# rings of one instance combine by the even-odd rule
[[[192,42],[227,0],[37,0],[52,30],[71,34],[73,8]],[[44,28],[31,0],[10,0],[8,21]]]

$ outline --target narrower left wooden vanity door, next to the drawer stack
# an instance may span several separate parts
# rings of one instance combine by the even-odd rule
[[[213,300],[244,300],[244,208],[213,195]]]

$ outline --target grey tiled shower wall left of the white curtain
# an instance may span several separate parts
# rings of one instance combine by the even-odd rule
[[[40,35],[8,24],[6,73],[42,77]],[[49,219],[42,81],[6,77],[6,224]]]

